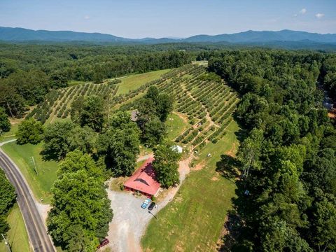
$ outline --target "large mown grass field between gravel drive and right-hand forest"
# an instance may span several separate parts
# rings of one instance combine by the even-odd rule
[[[202,169],[190,172],[167,207],[153,218],[141,239],[144,251],[215,251],[225,216],[235,196],[235,183],[216,172],[221,154],[235,153],[235,122],[217,144],[208,144],[197,162]],[[211,158],[207,154],[211,153]]]

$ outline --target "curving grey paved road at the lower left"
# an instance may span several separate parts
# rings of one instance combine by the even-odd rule
[[[4,144],[4,143],[2,143]],[[1,144],[1,145],[2,145]],[[0,167],[5,171],[9,181],[18,194],[18,204],[25,220],[31,246],[36,252],[55,252],[50,237],[36,208],[34,197],[20,170],[0,149]]]

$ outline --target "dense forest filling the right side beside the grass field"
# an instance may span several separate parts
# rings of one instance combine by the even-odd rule
[[[335,94],[335,55],[241,50],[202,57],[241,94],[235,116],[244,131],[233,162],[241,179],[223,251],[335,251],[335,121],[316,85],[324,80]]]

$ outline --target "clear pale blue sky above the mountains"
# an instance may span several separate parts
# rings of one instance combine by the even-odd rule
[[[127,38],[253,30],[336,33],[335,0],[0,0],[0,26]]]

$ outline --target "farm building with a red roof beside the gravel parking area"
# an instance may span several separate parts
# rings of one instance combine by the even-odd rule
[[[152,167],[154,158],[148,158],[136,172],[124,183],[124,189],[139,192],[147,197],[158,195],[160,183],[155,179]]]

